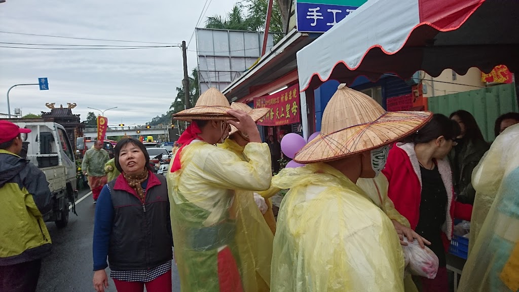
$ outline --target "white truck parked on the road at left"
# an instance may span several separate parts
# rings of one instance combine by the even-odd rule
[[[9,121],[20,128],[31,129],[29,134],[22,134],[24,142],[20,156],[41,169],[49,182],[53,206],[51,211],[43,214],[43,219],[45,222],[55,222],[58,228],[66,227],[71,203],[76,214],[74,199],[77,197],[77,183],[74,150],[65,128],[48,118],[16,118]]]

